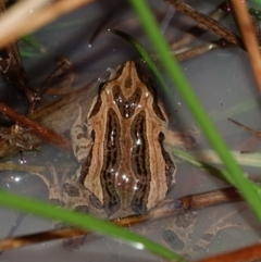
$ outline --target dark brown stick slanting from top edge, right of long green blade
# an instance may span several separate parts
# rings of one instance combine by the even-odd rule
[[[245,49],[240,37],[233,34],[231,30],[225,28],[215,20],[194,10],[191,7],[189,7],[188,4],[184,3],[181,0],[164,0],[164,1],[167,3],[171,3],[176,10],[184,13],[185,15],[194,18],[198,24],[206,26],[210,30],[225,38],[228,42]]]

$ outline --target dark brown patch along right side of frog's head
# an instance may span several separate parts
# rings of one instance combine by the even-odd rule
[[[148,90],[153,96],[153,110],[157,116],[162,120],[166,121],[164,113],[162,112],[161,108],[159,107],[159,98],[158,92],[156,91],[157,88],[154,87],[154,83],[158,83],[157,78],[153,76],[153,73],[148,68],[148,66],[145,66],[145,64],[135,63],[136,71],[139,76],[139,79],[146,85]]]

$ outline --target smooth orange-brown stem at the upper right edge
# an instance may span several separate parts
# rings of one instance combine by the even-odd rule
[[[231,3],[237,18],[245,47],[249,53],[259,90],[261,91],[261,55],[252,18],[248,13],[246,3],[238,0],[231,0]]]

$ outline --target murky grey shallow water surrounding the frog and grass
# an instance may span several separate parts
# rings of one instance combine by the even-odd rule
[[[26,43],[21,42],[21,48],[24,52],[34,53],[33,58],[23,58],[30,85],[38,87],[45,80],[54,70],[54,60],[58,55],[64,55],[72,61],[77,75],[76,86],[84,86],[99,77],[103,78],[108,67],[115,68],[126,60],[139,58],[129,43],[115,35],[109,34],[107,32],[108,27],[117,28],[130,34],[148,48],[150,52],[153,52],[134,11],[126,3],[122,3],[122,7],[116,9],[119,2],[122,1],[110,1],[110,4],[107,1],[96,1],[35,33],[34,37],[46,49],[45,54],[37,53],[37,51],[26,46]],[[167,5],[160,0],[151,2],[162,28],[165,28],[164,23],[167,24],[164,34],[170,42],[177,39],[184,30],[194,24],[177,11],[171,13],[172,18],[170,23],[165,22],[167,21],[165,14],[171,12]],[[215,1],[214,4],[209,1],[188,2],[197,10],[208,13],[214,9],[214,4],[221,1]],[[115,9],[116,11],[114,11]],[[108,15],[108,12],[114,13],[112,17],[104,22],[105,25],[90,47],[89,39],[103,17]],[[231,16],[224,20],[224,24],[233,29],[235,27]],[[208,37],[211,36],[211,34],[208,34]],[[203,42],[204,38],[208,37],[203,36],[200,39],[196,39],[194,45]],[[181,66],[188,77],[196,96],[199,97],[231,149],[258,151],[259,140],[253,140],[254,142],[252,144],[254,147],[251,147],[252,144],[250,142],[244,144],[251,138],[251,135],[227,121],[227,117],[232,117],[254,129],[259,129],[261,126],[259,123],[259,95],[247,53],[235,47],[216,49],[182,62]],[[198,129],[197,124],[190,116],[175,87],[171,88],[171,102],[167,99],[163,100],[165,104],[169,104],[167,113],[172,128],[179,130]],[[42,102],[45,102],[45,99]],[[67,136],[67,133],[65,133],[65,136]],[[195,150],[199,149],[210,149],[210,146],[202,136]],[[72,172],[75,170],[76,161],[72,152],[64,152],[50,146],[42,146],[39,150],[40,152],[24,154],[27,164],[46,165],[47,162],[51,162],[54,166],[61,166],[64,163],[72,162],[74,166]],[[251,158],[250,153],[249,155]],[[10,161],[18,163],[18,158],[13,158]],[[243,169],[249,174],[259,173],[259,169],[252,166],[244,165]],[[188,163],[178,162],[176,185],[170,195],[167,195],[167,198],[179,198],[220,187],[225,187],[225,183]],[[38,177],[30,174],[4,173],[2,174],[1,188],[48,200],[48,190],[45,184]],[[192,241],[197,241],[213,223],[234,210],[238,210],[238,212],[228,222],[236,226],[227,227],[217,233],[214,240],[200,253],[200,257],[224,252],[259,241],[259,224],[245,203],[226,204],[224,207],[199,211]],[[1,210],[1,238],[8,235],[18,215],[14,211]],[[161,221],[141,225],[135,228],[135,230],[147,233],[152,239],[164,244],[162,236],[170,224],[171,220],[169,219],[165,222]],[[50,228],[51,222],[26,215],[17,225],[14,236]],[[135,249],[122,241],[111,240],[97,235],[88,236],[84,246],[73,252],[65,251],[59,241],[53,241],[4,251],[0,257],[0,261],[20,260],[21,262],[46,260],[133,261],[134,259],[138,259],[139,261],[160,261],[159,258],[144,250]]]

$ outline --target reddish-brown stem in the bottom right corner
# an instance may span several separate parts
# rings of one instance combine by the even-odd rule
[[[214,255],[208,259],[198,260],[197,262],[221,262],[221,261],[250,262],[250,261],[260,261],[260,258],[261,258],[261,245],[256,244],[251,247],[241,248],[239,250]]]

